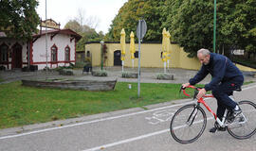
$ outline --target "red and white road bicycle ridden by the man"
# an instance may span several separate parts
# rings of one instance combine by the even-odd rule
[[[200,88],[188,86],[187,88],[194,89],[193,98],[196,97]],[[183,93],[190,96],[186,92],[186,88],[181,88]],[[213,97],[212,94],[206,94],[204,97]],[[170,125],[170,131],[174,140],[178,143],[193,143],[204,132],[207,125],[207,115],[205,110],[200,107],[203,104],[210,111],[213,118],[218,123],[218,126],[228,129],[229,134],[236,139],[250,138],[256,132],[256,105],[251,101],[238,102],[242,113],[237,117],[231,117],[231,112],[226,109],[222,119],[219,119],[216,114],[210,109],[204,100],[204,97],[197,99],[197,102],[191,105],[186,105],[178,109],[173,116]]]

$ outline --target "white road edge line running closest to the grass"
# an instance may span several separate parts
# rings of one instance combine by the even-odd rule
[[[248,89],[251,89],[251,88],[256,88],[256,85],[253,85],[253,86],[244,88],[243,90],[248,90]],[[208,98],[207,98],[207,99],[208,99]],[[209,99],[210,99],[210,98],[209,98]],[[166,106],[166,107],[162,107],[162,108],[143,110],[143,111],[138,111],[138,112],[134,112],[134,113],[123,114],[123,115],[119,115],[119,116],[113,116],[113,117],[102,118],[102,119],[98,119],[98,120],[93,120],[93,121],[88,121],[88,122],[82,122],[82,123],[79,123],[79,124],[73,124],[73,125],[68,125],[68,126],[60,126],[60,127],[46,128],[46,129],[42,129],[42,130],[35,130],[35,131],[26,132],[26,133],[22,133],[22,134],[16,134],[16,135],[8,135],[8,136],[0,137],[0,140],[9,139],[9,138],[16,138],[16,137],[21,137],[21,136],[26,136],[26,135],[36,134],[36,133],[41,133],[41,132],[46,132],[46,131],[50,131],[50,130],[62,129],[62,128],[66,128],[66,127],[82,126],[82,125],[87,125],[87,124],[92,124],[92,123],[98,123],[98,122],[102,122],[102,121],[114,120],[114,119],[118,119],[118,118],[122,118],[122,117],[133,116],[133,115],[142,114],[142,113],[146,113],[146,112],[151,112],[151,111],[155,111],[155,110],[168,109],[168,108],[173,108],[173,107],[177,107],[177,106],[183,106],[183,105],[191,104],[192,102],[194,102],[194,101],[190,101],[190,102],[182,103],[182,104],[177,104],[177,105],[172,105],[172,106]]]

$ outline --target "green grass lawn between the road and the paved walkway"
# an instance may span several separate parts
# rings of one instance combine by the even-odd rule
[[[21,82],[0,85],[0,128],[24,126],[118,109],[130,109],[185,98],[180,84],[118,82],[115,91],[87,92],[25,87]]]

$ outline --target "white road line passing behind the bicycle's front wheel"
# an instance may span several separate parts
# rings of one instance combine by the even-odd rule
[[[213,120],[213,117],[207,118],[207,121],[208,120]],[[203,120],[200,120],[200,121],[195,122],[195,124],[202,123],[202,122],[203,122]],[[174,129],[179,129],[179,128],[182,128],[182,127],[185,127],[185,126],[186,125],[177,126],[177,127],[174,127]],[[85,149],[85,150],[82,150],[82,151],[97,151],[97,150],[109,148],[109,147],[112,147],[112,146],[115,146],[115,145],[119,145],[119,144],[122,144],[122,143],[131,143],[131,142],[134,142],[134,141],[137,141],[137,140],[145,139],[145,138],[152,137],[152,136],[155,136],[155,135],[159,135],[159,134],[162,134],[162,133],[166,133],[166,132],[169,132],[169,131],[170,131],[170,129],[168,128],[168,129],[164,129],[164,130],[160,130],[160,131],[155,131],[153,133],[148,133],[148,134],[145,134],[145,135],[140,135],[140,136],[137,136],[135,138],[122,140],[122,141],[119,141],[119,142],[116,142],[116,143],[103,144],[103,145],[93,147],[93,148],[89,148],[89,149]]]

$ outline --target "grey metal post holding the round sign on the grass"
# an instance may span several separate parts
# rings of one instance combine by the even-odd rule
[[[138,33],[139,33],[139,38],[138,38],[138,60],[137,60],[137,97],[140,95],[140,39],[141,39],[141,32],[142,32],[142,25],[141,25],[141,20],[138,22]]]

